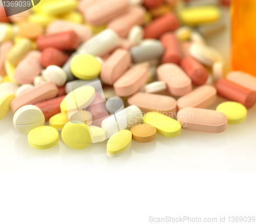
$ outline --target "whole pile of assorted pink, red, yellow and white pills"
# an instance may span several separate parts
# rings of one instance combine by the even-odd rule
[[[226,28],[220,7],[229,4],[44,0],[10,17],[0,8],[0,119],[12,110],[36,149],[61,135],[74,149],[107,142],[111,157],[157,133],[220,133],[243,122],[256,77],[226,75],[205,41]],[[207,109],[217,95],[229,101]]]

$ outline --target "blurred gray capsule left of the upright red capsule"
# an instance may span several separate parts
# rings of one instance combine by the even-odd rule
[[[130,49],[132,59],[134,63],[151,60],[153,58],[162,57],[164,53],[164,47],[161,41],[152,40],[146,44],[135,46]]]

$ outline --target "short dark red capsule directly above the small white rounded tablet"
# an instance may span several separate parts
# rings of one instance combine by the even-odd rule
[[[42,51],[41,64],[48,67],[49,65],[57,65],[62,67],[63,64],[69,59],[69,55],[56,49],[56,48],[46,48]]]

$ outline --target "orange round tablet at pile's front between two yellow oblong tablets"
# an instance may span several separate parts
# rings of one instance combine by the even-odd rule
[[[157,138],[157,129],[145,123],[133,126],[131,131],[135,142],[147,143]]]

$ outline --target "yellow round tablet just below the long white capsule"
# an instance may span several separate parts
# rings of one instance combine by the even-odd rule
[[[101,64],[93,55],[78,54],[71,60],[70,68],[76,78],[91,80],[99,76]]]

